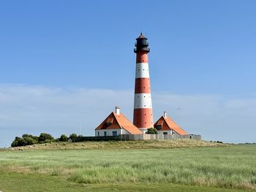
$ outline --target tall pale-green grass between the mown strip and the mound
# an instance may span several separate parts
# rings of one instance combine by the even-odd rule
[[[5,171],[20,169],[75,183],[178,183],[256,189],[256,145],[1,152],[0,164]]]

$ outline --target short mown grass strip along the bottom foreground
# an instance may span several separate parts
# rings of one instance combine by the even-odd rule
[[[113,191],[147,191],[147,192],[241,192],[238,189],[224,189],[211,187],[198,187],[189,185],[176,185],[170,183],[118,183],[118,184],[78,184],[67,182],[60,177],[42,174],[1,173],[0,190],[4,192],[113,192]]]

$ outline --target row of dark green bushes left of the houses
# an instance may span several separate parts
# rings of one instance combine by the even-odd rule
[[[65,134],[61,134],[61,137],[54,138],[50,134],[42,133],[38,137],[31,134],[23,134],[22,137],[15,137],[12,142],[12,147],[20,147],[26,145],[36,145],[49,142],[67,142],[69,139],[73,140],[77,137],[83,137],[82,135],[70,134],[69,137]]]

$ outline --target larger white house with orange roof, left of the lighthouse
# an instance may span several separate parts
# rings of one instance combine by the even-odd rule
[[[119,134],[143,134],[140,129],[133,125],[116,107],[116,112],[111,112],[97,128],[96,137],[118,136]]]

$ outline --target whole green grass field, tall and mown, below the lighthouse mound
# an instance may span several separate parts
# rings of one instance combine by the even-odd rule
[[[138,147],[141,143],[146,149]],[[189,147],[187,143],[183,148],[161,148],[161,144],[170,145],[83,142],[76,147],[53,144],[46,145],[47,150],[37,146],[1,151],[0,191],[256,190],[256,145]]]

